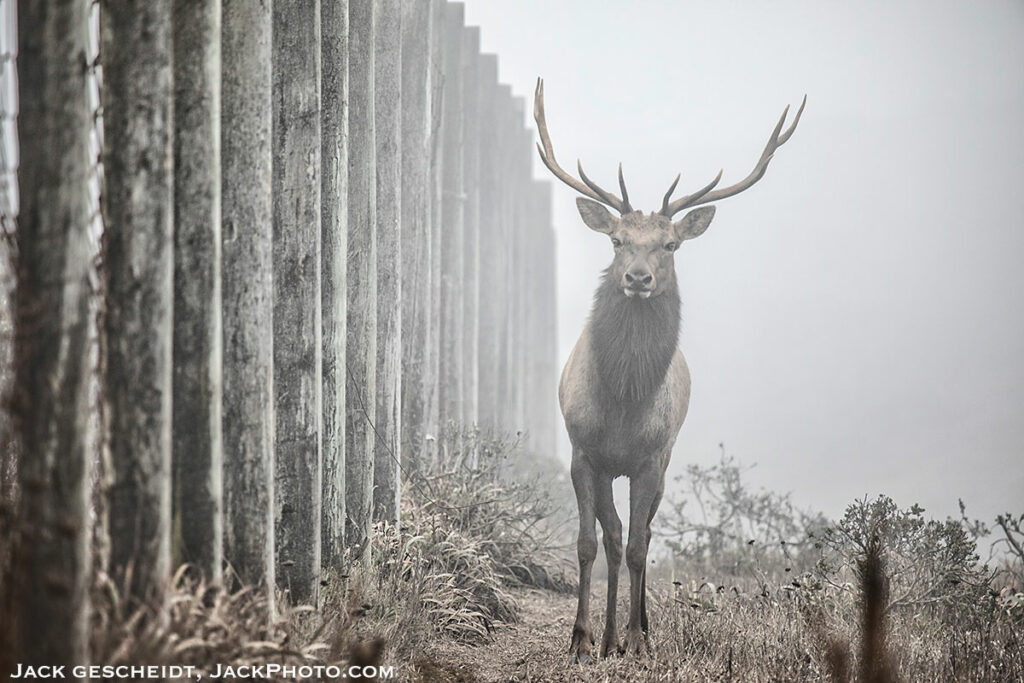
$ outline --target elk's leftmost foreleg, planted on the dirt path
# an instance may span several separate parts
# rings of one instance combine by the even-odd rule
[[[586,664],[591,660],[594,634],[590,629],[590,575],[597,557],[597,528],[594,512],[594,470],[579,452],[572,454],[572,487],[580,508],[580,536],[577,538],[577,556],[580,559],[580,593],[577,601],[577,618],[572,625],[569,644],[569,661]]]

